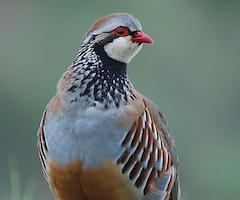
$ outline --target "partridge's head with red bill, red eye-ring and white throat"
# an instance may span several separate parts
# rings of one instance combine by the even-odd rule
[[[83,44],[90,41],[98,51],[126,64],[139,52],[143,43],[153,44],[152,38],[142,31],[140,22],[126,13],[98,19],[86,33]]]

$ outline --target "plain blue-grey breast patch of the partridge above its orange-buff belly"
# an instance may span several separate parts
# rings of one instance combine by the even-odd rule
[[[120,143],[130,129],[130,125],[117,125],[121,111],[102,112],[89,107],[70,113],[57,118],[47,113],[44,129],[51,159],[63,165],[80,159],[84,161],[83,167],[94,168],[117,158],[121,153]]]

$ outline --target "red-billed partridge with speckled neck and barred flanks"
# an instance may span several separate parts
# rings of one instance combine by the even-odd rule
[[[178,155],[164,115],[130,82],[127,64],[153,44],[132,15],[98,19],[60,78],[38,131],[56,200],[177,200]]]

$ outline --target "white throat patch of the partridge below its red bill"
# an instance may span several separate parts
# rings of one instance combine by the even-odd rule
[[[132,42],[131,38],[131,36],[116,38],[113,42],[106,44],[104,50],[110,58],[129,63],[142,47]]]

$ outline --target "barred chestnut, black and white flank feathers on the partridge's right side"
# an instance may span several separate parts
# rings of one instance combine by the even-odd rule
[[[149,110],[133,123],[121,146],[125,149],[117,160],[144,200],[168,200],[176,179],[171,152],[162,139]]]

